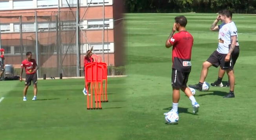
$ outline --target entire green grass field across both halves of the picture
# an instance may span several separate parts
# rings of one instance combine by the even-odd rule
[[[254,140],[256,139],[255,15],[234,14],[240,57],[235,66],[236,98],[223,99],[229,88],[196,93],[198,115],[181,92],[179,124],[167,125],[172,106],[171,52],[165,48],[174,17],[181,14],[125,14],[128,77],[110,78],[109,101],[102,110],[86,110],[83,79],[40,80],[38,100],[22,101],[24,83],[0,81],[0,140]],[[217,48],[218,32],[209,28],[216,14],[183,14],[194,36],[188,84],[199,80],[201,64]],[[206,81],[216,80],[210,68]],[[227,76],[223,78],[227,81]],[[31,98],[31,99],[30,99]]]

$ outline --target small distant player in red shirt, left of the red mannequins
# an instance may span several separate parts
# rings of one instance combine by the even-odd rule
[[[35,59],[32,59],[32,53],[27,52],[26,53],[27,59],[22,61],[21,64],[21,70],[20,70],[20,82],[22,81],[22,72],[23,68],[25,68],[26,71],[26,81],[25,81],[25,88],[23,90],[23,101],[27,101],[26,95],[27,95],[27,89],[31,85],[31,81],[34,84],[34,97],[33,101],[37,100],[37,62]]]

